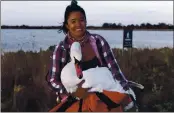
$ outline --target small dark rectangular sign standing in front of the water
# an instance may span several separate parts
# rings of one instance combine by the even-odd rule
[[[131,29],[124,29],[123,31],[123,48],[132,48],[132,31]]]

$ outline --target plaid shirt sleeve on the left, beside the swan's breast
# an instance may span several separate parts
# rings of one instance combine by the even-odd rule
[[[65,89],[60,80],[60,74],[62,70],[62,63],[65,60],[65,56],[63,54],[63,49],[61,48],[61,43],[57,45],[54,49],[54,52],[50,61],[49,73],[46,77],[48,84],[50,87],[59,93],[64,93]]]

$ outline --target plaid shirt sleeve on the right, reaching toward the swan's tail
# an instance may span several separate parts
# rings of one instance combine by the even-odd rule
[[[127,84],[127,79],[123,75],[122,71],[120,70],[120,67],[118,65],[118,62],[116,58],[114,57],[114,54],[112,52],[112,49],[110,48],[108,42],[102,37],[97,35],[100,40],[101,50],[103,52],[103,57],[105,62],[107,63],[107,67],[112,72],[112,75],[114,79],[117,79],[120,81],[121,85],[124,87]]]

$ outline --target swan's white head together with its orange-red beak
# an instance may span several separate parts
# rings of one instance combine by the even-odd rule
[[[82,78],[82,69],[80,67],[80,62],[82,60],[82,51],[81,51],[81,46],[79,42],[74,42],[71,45],[70,49],[70,57],[72,62],[75,64],[75,69],[77,72],[77,77]]]

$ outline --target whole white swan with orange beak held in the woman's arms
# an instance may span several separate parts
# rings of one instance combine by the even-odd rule
[[[77,90],[82,80],[82,88],[91,88],[90,92],[102,92],[103,90],[117,91],[120,93],[132,94],[134,99],[136,96],[131,88],[125,91],[119,81],[114,80],[112,73],[107,67],[96,67],[85,71],[81,71],[79,62],[82,59],[81,46],[78,42],[74,42],[70,49],[71,62],[69,62],[61,72],[61,81],[67,92],[73,93]],[[80,79],[81,78],[81,79]]]

